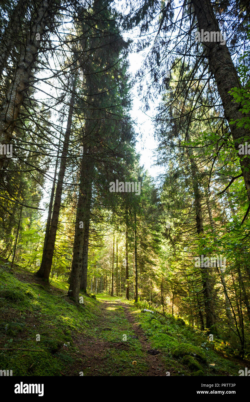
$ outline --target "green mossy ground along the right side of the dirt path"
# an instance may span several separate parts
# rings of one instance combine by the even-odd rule
[[[140,303],[138,306],[147,308]],[[222,354],[224,343],[220,339],[214,337],[213,342],[209,342],[208,336],[196,328],[183,325],[178,317],[166,314],[164,318],[157,313],[142,313],[141,310],[138,310],[138,316],[152,347],[161,350],[170,375],[238,376],[238,371],[250,364],[249,361],[230,356],[226,350]],[[220,345],[218,351],[216,345]],[[195,359],[199,369],[195,369],[195,364],[191,367],[187,359],[183,362],[186,355]]]

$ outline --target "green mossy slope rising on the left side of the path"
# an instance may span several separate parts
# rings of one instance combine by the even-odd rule
[[[86,307],[79,308],[66,291],[54,292],[51,287],[22,282],[15,271],[14,275],[0,273],[0,316],[6,317],[0,320],[0,342],[1,347],[14,349],[0,351],[0,367],[13,370],[13,375],[67,375],[76,352],[71,333],[84,337],[86,328],[94,328],[98,302],[89,298]],[[21,272],[27,277],[30,274]],[[67,350],[63,343],[69,343]],[[19,352],[19,348],[30,351]]]

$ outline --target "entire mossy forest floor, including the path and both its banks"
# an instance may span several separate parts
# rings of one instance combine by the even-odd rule
[[[67,287],[59,279],[47,286],[30,271],[0,262],[0,369],[15,376],[138,376],[238,375],[247,367],[202,347],[204,336],[178,318],[142,313],[139,304],[104,294],[97,300],[82,295],[78,304]],[[160,354],[150,357],[145,345]]]

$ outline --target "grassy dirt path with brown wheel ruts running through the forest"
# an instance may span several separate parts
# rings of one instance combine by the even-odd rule
[[[78,361],[66,375],[166,375],[161,353],[147,353],[152,347],[129,307],[120,299],[102,299],[98,307],[98,320],[87,336],[74,339]]]

